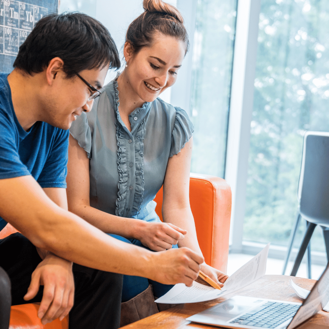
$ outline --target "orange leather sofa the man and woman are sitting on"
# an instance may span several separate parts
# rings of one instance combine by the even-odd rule
[[[156,212],[162,220],[162,188],[155,197]],[[222,178],[191,174],[190,205],[195,221],[196,234],[207,264],[226,272],[228,239],[231,217],[231,188]],[[0,232],[0,239],[17,232],[7,224]],[[37,317],[38,303],[16,305],[11,308],[10,328],[67,329],[68,318],[42,325]]]

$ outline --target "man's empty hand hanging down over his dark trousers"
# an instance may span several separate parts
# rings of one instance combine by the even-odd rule
[[[72,263],[48,253],[32,273],[31,283],[24,300],[36,296],[43,285],[43,296],[38,317],[42,324],[68,315],[74,302]]]

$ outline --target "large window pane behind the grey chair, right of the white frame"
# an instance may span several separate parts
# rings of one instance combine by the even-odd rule
[[[303,133],[329,131],[328,0],[262,0],[243,238],[287,244]],[[320,230],[312,248],[322,250]]]

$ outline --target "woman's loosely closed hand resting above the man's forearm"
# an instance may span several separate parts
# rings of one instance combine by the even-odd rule
[[[186,230],[170,223],[149,223],[143,220],[140,221],[135,232],[134,238],[154,251],[170,249],[178,240],[183,240],[187,233]]]

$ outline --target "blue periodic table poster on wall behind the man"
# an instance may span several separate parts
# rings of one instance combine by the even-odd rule
[[[57,13],[58,0],[0,0],[0,71],[10,73],[25,41],[40,18]]]

